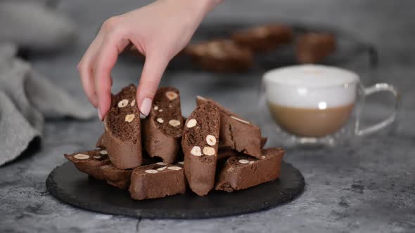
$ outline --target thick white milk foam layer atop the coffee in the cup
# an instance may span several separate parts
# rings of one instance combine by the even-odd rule
[[[267,100],[286,107],[340,107],[355,102],[359,76],[324,65],[296,65],[264,74]]]

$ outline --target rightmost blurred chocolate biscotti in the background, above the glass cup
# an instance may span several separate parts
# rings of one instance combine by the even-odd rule
[[[336,37],[327,33],[303,34],[296,50],[298,62],[316,63],[336,51]]]

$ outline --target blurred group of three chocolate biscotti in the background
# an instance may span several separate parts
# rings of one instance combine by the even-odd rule
[[[254,67],[256,56],[275,52],[292,44],[299,63],[317,63],[336,51],[336,36],[330,33],[296,33],[288,25],[276,23],[248,27],[231,32],[223,39],[189,44],[184,54],[205,70],[245,72]],[[277,62],[277,61],[276,61]]]

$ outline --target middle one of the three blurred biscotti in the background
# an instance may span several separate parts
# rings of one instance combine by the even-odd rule
[[[272,51],[293,40],[293,29],[284,25],[262,25],[237,31],[232,39],[255,52]]]

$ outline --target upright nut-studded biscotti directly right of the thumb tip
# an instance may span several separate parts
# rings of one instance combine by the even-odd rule
[[[144,121],[144,147],[150,157],[160,157],[166,164],[177,161],[183,117],[180,95],[176,88],[159,88],[151,112]]]

